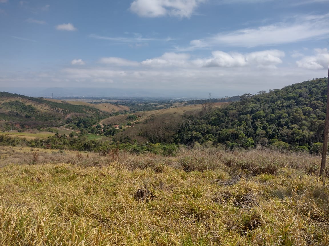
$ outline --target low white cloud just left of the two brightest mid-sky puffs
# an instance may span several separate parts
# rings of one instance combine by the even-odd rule
[[[190,58],[189,54],[186,53],[164,53],[160,57],[156,57],[153,59],[147,59],[142,61],[143,65],[149,66],[184,66],[188,64],[188,60]]]

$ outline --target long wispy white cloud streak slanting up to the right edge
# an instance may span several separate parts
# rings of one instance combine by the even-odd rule
[[[257,28],[221,32],[213,37],[192,40],[190,49],[214,46],[255,47],[325,38],[329,34],[329,14],[296,17],[294,20]]]

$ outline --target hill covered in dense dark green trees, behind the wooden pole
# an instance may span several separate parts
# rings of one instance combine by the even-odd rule
[[[208,142],[229,148],[257,144],[277,149],[317,152],[323,141],[327,78],[287,86],[189,116],[176,135],[184,144]]]

